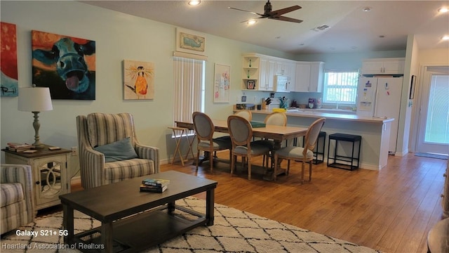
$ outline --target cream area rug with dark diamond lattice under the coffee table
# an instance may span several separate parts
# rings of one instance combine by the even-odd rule
[[[176,205],[204,212],[206,202],[194,197],[177,200]],[[75,233],[100,226],[100,222],[75,211]],[[79,252],[64,244],[63,236],[41,235],[41,231],[60,231],[62,212],[39,217],[33,223],[19,228],[34,235],[16,235],[15,231],[1,238],[0,252]],[[345,252],[371,253],[375,249],[314,233],[286,223],[215,204],[213,226],[200,226],[145,253],[212,253],[212,252]]]

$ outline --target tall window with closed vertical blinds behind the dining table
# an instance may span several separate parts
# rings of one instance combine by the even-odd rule
[[[205,63],[204,60],[173,58],[174,121],[192,122],[193,112],[204,112]]]

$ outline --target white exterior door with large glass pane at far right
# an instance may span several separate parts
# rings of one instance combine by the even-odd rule
[[[424,67],[418,153],[449,154],[449,67]]]

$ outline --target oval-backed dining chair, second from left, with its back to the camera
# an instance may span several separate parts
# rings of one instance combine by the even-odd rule
[[[264,141],[251,141],[253,138],[253,127],[243,117],[231,115],[227,118],[229,135],[232,140],[231,176],[234,174],[237,157],[242,157],[243,166],[247,164],[248,180],[251,180],[251,158],[260,155],[269,155],[269,146]],[[267,161],[268,164],[268,161]],[[264,162],[262,162],[262,166]]]

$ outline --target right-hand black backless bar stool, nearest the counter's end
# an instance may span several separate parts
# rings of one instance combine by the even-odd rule
[[[328,144],[328,167],[334,167],[339,169],[357,169],[359,165],[359,159],[360,159],[360,148],[361,148],[361,139],[362,136],[357,136],[353,134],[329,134],[329,144]],[[335,152],[334,157],[330,157],[330,140],[335,140]],[[344,155],[338,155],[337,153],[337,147],[339,141],[347,141],[352,143],[352,150],[351,150],[351,156],[344,156]],[[357,157],[354,157],[354,151],[355,151],[355,143],[358,141],[358,155]],[[330,163],[329,161],[333,160],[333,163]],[[337,162],[341,161],[341,162]],[[351,164],[346,164],[342,162],[351,162]],[[354,162],[357,162],[355,164]]]

